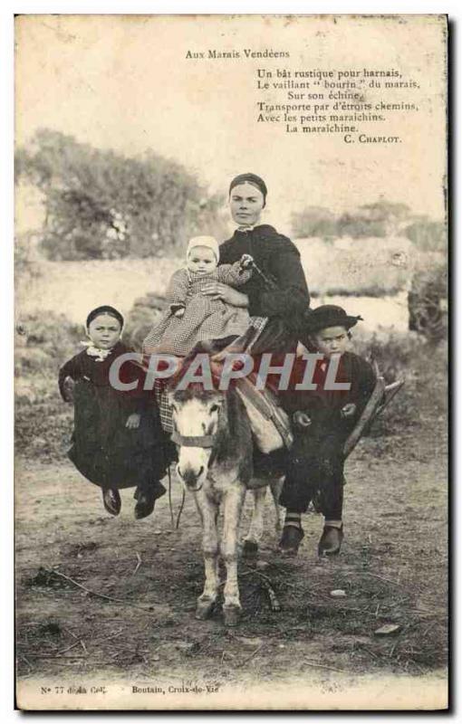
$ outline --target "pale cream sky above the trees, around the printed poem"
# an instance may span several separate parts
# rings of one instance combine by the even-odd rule
[[[210,192],[226,194],[237,173],[254,171],[269,188],[265,221],[288,226],[304,206],[334,212],[380,197],[416,214],[444,216],[444,24],[438,16],[29,15],[16,20],[15,135],[57,129],[127,155],[153,150],[182,163]],[[289,52],[246,59],[243,49]],[[188,59],[188,51],[240,52],[238,59]],[[417,90],[379,129],[397,144],[347,144],[343,134],[286,133],[257,123],[257,101],[284,94],[257,89],[257,71],[397,68]],[[375,100],[378,91],[367,90]],[[287,101],[286,101],[287,102]],[[292,101],[294,102],[294,101]],[[365,127],[378,135],[378,124]],[[281,228],[281,225],[283,228]]]

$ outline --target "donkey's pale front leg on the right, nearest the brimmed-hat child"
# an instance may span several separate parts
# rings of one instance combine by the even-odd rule
[[[237,583],[237,536],[244,500],[245,486],[238,481],[226,491],[223,500],[221,556],[226,566],[226,584],[223,590],[223,616],[226,626],[235,626],[241,614]]]

